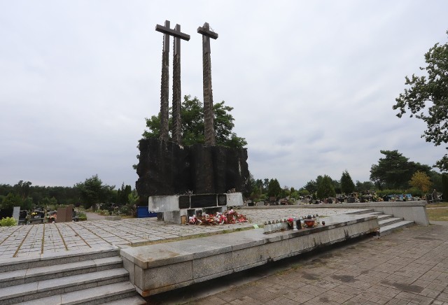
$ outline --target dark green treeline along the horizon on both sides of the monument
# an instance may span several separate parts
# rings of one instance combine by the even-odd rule
[[[263,200],[269,197],[276,199],[290,197],[299,199],[312,196],[313,199],[335,197],[336,194],[350,194],[351,192],[365,192],[376,190],[382,192],[412,193],[423,197],[433,189],[448,194],[448,174],[437,173],[431,166],[409,161],[397,150],[381,150],[381,157],[377,164],[372,164],[370,181],[353,183],[348,171],[343,171],[339,179],[330,178],[324,174],[315,180],[310,180],[303,187],[280,186],[276,178],[255,179],[251,175],[248,190],[244,193],[246,199]],[[39,186],[30,181],[20,180],[15,185],[0,184],[0,208],[20,206],[31,209],[34,206],[69,205],[90,208],[95,204],[128,205],[132,208],[137,202],[138,194],[130,185],[106,185],[94,175],[73,187]]]

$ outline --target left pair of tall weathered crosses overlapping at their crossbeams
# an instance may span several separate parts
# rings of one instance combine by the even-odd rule
[[[189,41],[190,35],[181,32],[181,26],[176,24],[169,28],[169,20],[165,25],[157,24],[156,31],[163,33],[162,51],[162,85],[160,85],[160,139],[168,140],[168,109],[169,109],[169,36],[174,36],[173,57],[173,140],[181,143],[181,39]]]

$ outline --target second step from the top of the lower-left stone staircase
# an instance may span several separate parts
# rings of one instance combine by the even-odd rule
[[[0,274],[0,288],[120,267],[123,267],[121,257],[112,256],[67,264],[55,264],[51,267],[7,271]]]

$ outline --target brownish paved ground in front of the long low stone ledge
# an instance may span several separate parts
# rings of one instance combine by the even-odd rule
[[[153,305],[448,305],[448,222],[409,227],[276,264],[273,271],[263,266],[242,276],[214,280],[213,286],[201,284],[147,301]]]

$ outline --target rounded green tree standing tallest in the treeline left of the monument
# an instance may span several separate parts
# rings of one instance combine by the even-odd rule
[[[94,175],[74,187],[79,190],[85,208],[90,208],[93,204],[108,203],[113,198],[115,185],[103,185],[98,175]]]

